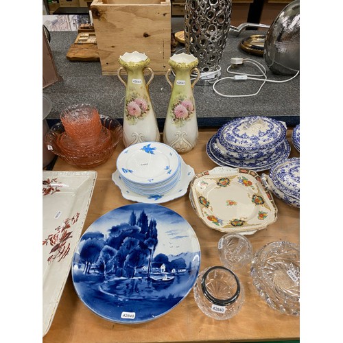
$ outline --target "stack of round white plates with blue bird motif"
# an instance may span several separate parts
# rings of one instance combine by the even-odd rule
[[[164,194],[180,180],[181,158],[169,145],[137,143],[119,154],[117,170],[131,191],[142,196]]]

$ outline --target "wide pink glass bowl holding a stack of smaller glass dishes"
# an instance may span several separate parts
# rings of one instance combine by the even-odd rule
[[[117,119],[99,115],[102,130],[91,145],[78,145],[64,130],[62,122],[52,126],[45,137],[47,149],[71,165],[93,168],[108,161],[121,140],[123,129]]]

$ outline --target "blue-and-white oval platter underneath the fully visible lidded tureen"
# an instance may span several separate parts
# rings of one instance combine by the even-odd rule
[[[291,147],[285,139],[283,143],[276,148],[276,151],[271,154],[268,158],[263,158],[262,161],[257,160],[239,160],[237,158],[229,158],[224,156],[221,150],[216,147],[215,140],[216,135],[214,134],[206,144],[206,153],[211,160],[221,166],[235,167],[235,168],[246,168],[254,171],[263,171],[270,169],[278,161],[287,158],[291,152]]]

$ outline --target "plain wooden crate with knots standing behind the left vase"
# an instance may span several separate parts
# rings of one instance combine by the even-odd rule
[[[164,75],[171,56],[171,5],[161,0],[94,0],[91,11],[103,75],[117,75],[118,58],[139,51]]]

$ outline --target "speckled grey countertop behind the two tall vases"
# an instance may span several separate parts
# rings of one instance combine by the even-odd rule
[[[248,54],[239,47],[242,39],[252,34],[265,33],[246,30],[241,32],[238,37],[228,36],[220,64],[222,67],[221,78],[228,76],[226,69],[230,65],[230,58],[233,57],[251,58],[261,62],[266,67],[270,80],[287,80],[289,78],[289,76],[274,75],[266,66],[263,56]],[[64,108],[81,103],[92,104],[102,115],[115,117],[121,121],[125,89],[117,76],[102,75],[100,62],[79,62],[67,59],[69,47],[74,43],[77,35],[78,32],[51,32],[51,52],[62,80],[43,89],[43,94],[47,95],[53,104],[47,117],[48,121],[49,119],[57,121]],[[185,47],[178,45],[176,52],[181,51],[185,51]],[[248,64],[240,71],[258,73],[257,69],[251,69]],[[240,95],[255,93],[259,86],[261,86],[259,81],[223,80],[217,84],[216,89],[224,94]],[[149,89],[158,126],[161,128],[167,113],[171,88],[165,76],[155,75]],[[259,94],[253,97],[221,97],[213,91],[212,86],[197,84],[194,86],[193,92],[200,128],[220,127],[230,119],[249,115],[273,117],[285,121],[289,127],[300,122],[300,75],[289,82],[267,82]]]

